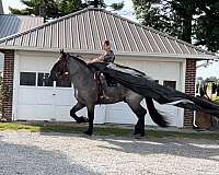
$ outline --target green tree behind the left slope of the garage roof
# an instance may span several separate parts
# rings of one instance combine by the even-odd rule
[[[43,11],[44,16],[48,19],[56,19],[69,13],[82,10],[88,5],[93,7],[107,7],[103,0],[82,2],[82,0],[21,0],[26,5],[25,9],[15,9],[9,7],[11,13],[21,15],[39,15]],[[123,9],[124,3],[113,3],[112,8],[116,10]]]

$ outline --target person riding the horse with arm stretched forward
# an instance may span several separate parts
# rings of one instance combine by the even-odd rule
[[[90,65],[90,63],[95,63],[95,62],[114,62],[114,60],[115,60],[115,55],[114,55],[113,50],[111,49],[111,43],[110,43],[110,40],[105,40],[103,47],[104,47],[105,52],[102,54],[100,57],[94,58],[94,59],[88,61],[89,65]],[[99,93],[100,93],[99,96],[100,96],[100,98],[108,98],[108,97],[104,94],[104,91],[103,91],[103,86],[102,86],[100,77],[101,77],[101,72],[96,72],[96,73],[95,73],[95,79],[97,80],[97,82],[99,82],[99,88],[101,89],[101,90],[99,91]]]

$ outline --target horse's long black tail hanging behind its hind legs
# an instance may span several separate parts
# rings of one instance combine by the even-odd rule
[[[152,120],[160,127],[168,127],[169,122],[155,108],[151,97],[146,97],[147,107]]]

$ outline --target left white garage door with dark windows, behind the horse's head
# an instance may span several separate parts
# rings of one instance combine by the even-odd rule
[[[59,120],[72,121],[69,116],[71,107],[77,103],[73,88],[69,81],[45,83],[45,78],[56,57],[20,56],[16,63],[16,120]],[[104,122],[105,106],[96,106],[95,122]],[[84,108],[79,115],[87,116]]]

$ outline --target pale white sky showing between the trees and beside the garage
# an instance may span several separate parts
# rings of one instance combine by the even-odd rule
[[[105,0],[106,4],[111,4],[114,2],[122,2],[123,0]],[[3,2],[3,9],[4,13],[10,13],[9,7],[16,8],[16,9],[22,9],[25,8],[20,0],[2,0]],[[132,21],[137,21],[135,16],[135,10],[134,10],[134,4],[131,0],[124,0],[124,9],[119,12],[116,12],[117,14],[125,16],[127,19],[130,19]],[[198,62],[197,65],[203,63]],[[204,79],[208,77],[217,77],[219,78],[219,62],[214,62],[212,65],[208,66],[207,68],[201,67],[197,68],[197,77],[203,77]]]

